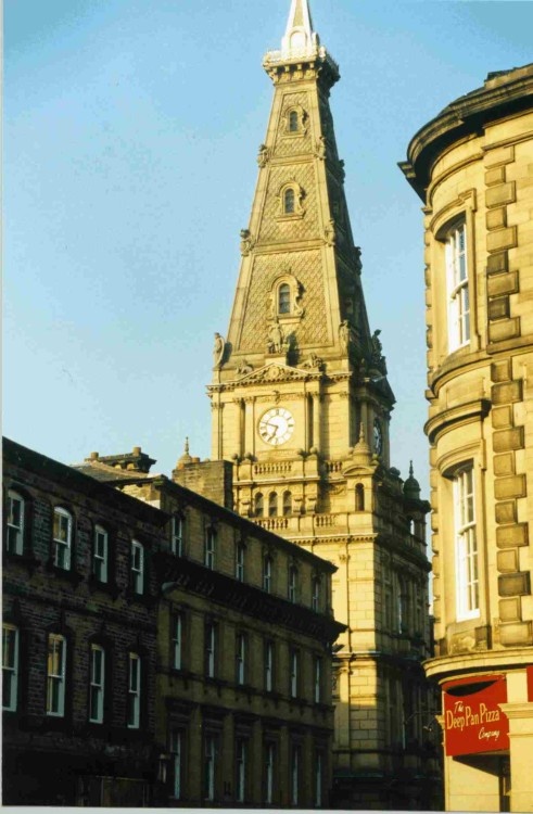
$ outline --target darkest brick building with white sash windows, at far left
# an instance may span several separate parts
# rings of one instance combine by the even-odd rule
[[[143,805],[163,512],[3,443],[7,805]]]

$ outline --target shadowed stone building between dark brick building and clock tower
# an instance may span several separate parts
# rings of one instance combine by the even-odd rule
[[[155,558],[164,804],[328,807],[334,568],[167,479],[125,488],[174,524]]]

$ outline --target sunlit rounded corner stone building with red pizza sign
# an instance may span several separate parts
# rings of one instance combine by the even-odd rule
[[[443,697],[446,809],[531,811],[533,65],[448,105],[401,167],[424,216],[436,638],[426,672]]]

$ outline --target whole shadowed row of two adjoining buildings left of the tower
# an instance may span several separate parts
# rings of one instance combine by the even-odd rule
[[[140,448],[3,455],[4,803],[327,806],[334,568]]]

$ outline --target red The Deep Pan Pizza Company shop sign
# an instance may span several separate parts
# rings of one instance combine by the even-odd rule
[[[446,682],[443,696],[447,755],[509,749],[509,722],[498,707],[507,702],[505,676]]]

